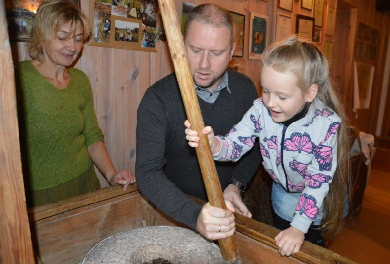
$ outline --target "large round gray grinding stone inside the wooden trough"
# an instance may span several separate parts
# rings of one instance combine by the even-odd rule
[[[219,247],[195,232],[172,226],[150,226],[113,235],[84,258],[90,263],[143,263],[163,258],[176,263],[225,263]]]

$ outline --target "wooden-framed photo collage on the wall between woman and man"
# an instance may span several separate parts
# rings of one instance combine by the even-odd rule
[[[90,46],[156,52],[157,0],[90,0]]]

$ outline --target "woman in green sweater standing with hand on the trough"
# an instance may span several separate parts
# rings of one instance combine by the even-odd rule
[[[54,203],[100,188],[95,164],[126,190],[135,177],[117,173],[99,128],[88,77],[74,64],[90,35],[71,0],[46,0],[34,16],[29,54],[19,63],[31,205]]]

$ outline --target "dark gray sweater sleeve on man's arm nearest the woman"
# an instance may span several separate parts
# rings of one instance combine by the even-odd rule
[[[188,198],[163,172],[168,136],[166,109],[153,91],[147,90],[137,117],[137,185],[152,203],[176,221],[196,230],[201,206]]]

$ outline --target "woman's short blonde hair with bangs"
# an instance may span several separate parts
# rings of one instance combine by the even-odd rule
[[[91,35],[91,28],[87,17],[71,0],[45,0],[34,15],[28,41],[28,53],[33,59],[42,61],[43,42],[56,38],[57,32],[71,22],[71,32],[75,32],[76,22],[80,21],[83,27],[83,43]]]

